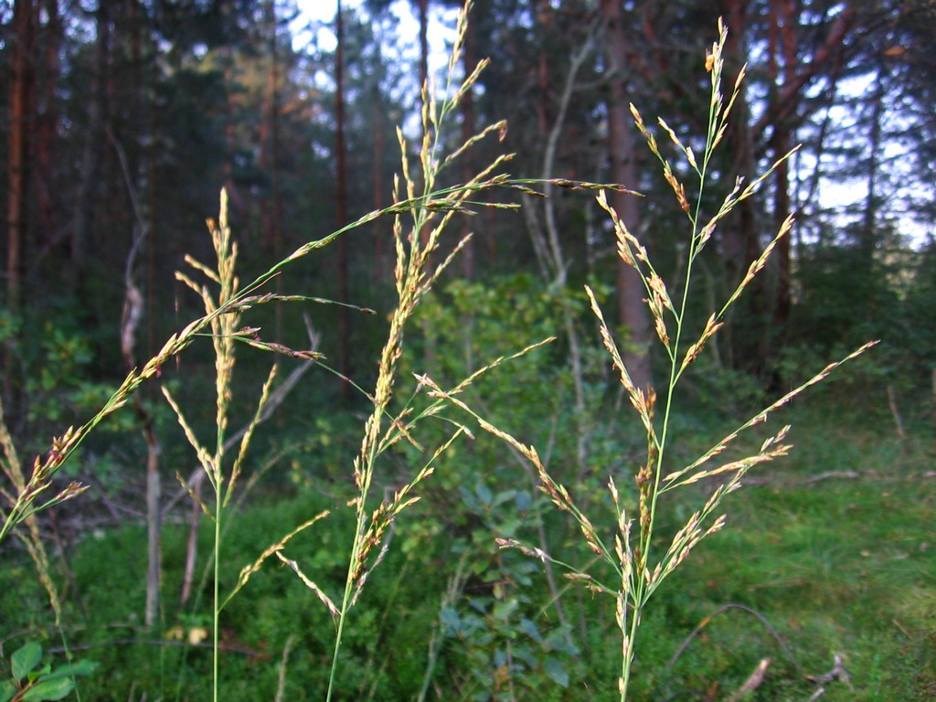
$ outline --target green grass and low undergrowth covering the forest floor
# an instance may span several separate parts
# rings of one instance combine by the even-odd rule
[[[807,674],[825,673],[833,655],[840,653],[855,689],[839,680],[828,683],[824,696],[833,702],[930,698],[927,685],[936,681],[932,638],[936,564],[931,558],[936,484],[922,477],[929,467],[927,454],[901,452],[864,427],[833,423],[812,403],[809,411],[791,412],[789,421],[798,428],[798,450],[777,467],[749,475],[751,484],[744,495],[729,497],[726,505],[730,528],[697,549],[684,570],[673,575],[665,597],[648,608],[633,680],[635,700],[651,702],[668,695],[701,699],[716,684],[728,695],[764,657],[772,663],[755,699],[799,700],[815,691],[768,628],[738,609],[713,617],[669,665],[695,626],[726,603],[753,607],[764,615]],[[699,444],[705,443],[704,433],[714,432],[695,425],[692,417],[680,417],[679,423],[691,429]],[[752,446],[757,443],[751,440]],[[810,482],[833,471],[860,471],[860,475]],[[369,580],[367,607],[353,613],[340,668],[342,679],[349,680],[344,687],[349,697],[367,699],[373,694],[373,699],[387,702],[416,698],[433,622],[442,612],[446,636],[431,689],[446,691],[446,699],[467,700],[490,692],[498,670],[496,651],[514,647],[524,651],[525,659],[514,660],[524,672],[513,668],[511,680],[517,694],[531,702],[580,699],[585,694],[583,684],[595,699],[611,698],[602,689],[602,680],[615,674],[620,655],[613,609],[604,598],[587,592],[577,601],[571,595],[578,588],[563,584],[577,656],[565,648],[565,632],[552,608],[542,564],[490,548],[496,531],[517,528],[511,522],[518,512],[523,518],[518,534],[534,530],[535,515],[525,498],[518,502],[516,495],[500,496],[510,490],[518,489],[503,483],[488,490],[474,484],[465,487],[473,514],[470,538],[446,531],[430,534],[437,505],[429,500],[401,521],[387,560]],[[698,488],[699,494],[705,490]],[[691,510],[692,496],[687,492],[685,497],[682,509]],[[456,505],[461,504],[461,494],[458,499]],[[241,565],[252,562],[279,538],[284,524],[299,523],[309,514],[340,504],[315,491],[260,493],[227,533],[223,586],[227,589],[236,582]],[[677,505],[673,506],[675,510]],[[461,506],[449,509],[456,508]],[[667,522],[665,530],[675,526]],[[352,527],[347,511],[335,509],[328,519],[290,542],[289,557],[300,561],[323,587],[339,587],[346,534]],[[554,526],[548,528],[550,534],[562,533]],[[163,633],[136,630],[134,622],[145,596],[139,578],[144,568],[139,548],[143,535],[132,525],[109,529],[83,539],[72,551],[74,591],[81,597],[80,602],[67,601],[66,621],[83,616],[82,609],[92,616],[70,634],[71,643],[95,647],[95,660],[101,664],[82,684],[82,698],[124,702],[133,689],[148,698],[204,699],[210,693],[206,684],[210,656],[204,642],[198,646],[189,642],[188,633],[206,628],[211,619],[208,591],[197,591],[202,593],[200,605],[175,614],[186,533],[181,526],[169,525],[164,541]],[[210,536],[210,529],[203,529],[199,552],[210,548]],[[410,546],[403,548],[407,543]],[[470,554],[463,595],[443,608],[446,583],[460,559],[452,549],[459,544]],[[294,580],[287,569],[264,568],[225,609],[226,699],[247,702],[271,696],[280,654],[291,634],[297,638],[287,666],[285,698],[320,699],[317,692],[327,680],[333,629],[314,594],[297,590]],[[114,597],[114,592],[121,596]],[[475,599],[480,600],[480,608],[473,606]],[[35,579],[5,556],[0,573],[0,611],[8,615],[5,626],[41,629],[46,623],[40,614],[42,600]],[[176,626],[184,630],[182,639],[168,636]],[[185,658],[182,651],[187,651]],[[569,675],[568,688],[550,677],[550,657],[562,663]],[[182,693],[177,695],[180,670],[184,671]],[[527,676],[538,680],[535,690],[526,684]],[[432,694],[427,697],[432,698]]]

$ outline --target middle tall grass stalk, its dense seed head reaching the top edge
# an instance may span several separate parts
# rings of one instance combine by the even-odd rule
[[[462,98],[475,84],[481,71],[488,61],[481,61],[474,71],[465,76],[461,83],[455,82],[457,66],[459,66],[467,18],[471,3],[462,7],[456,28],[456,41],[453,45],[448,62],[446,85],[441,103],[437,101],[435,91],[426,84],[422,86],[422,142],[419,149],[418,176],[413,173],[408,146],[403,138],[402,131],[398,129],[398,139],[402,154],[402,183],[398,179],[394,187],[394,202],[402,203],[408,200],[412,205],[408,208],[409,224],[404,226],[403,213],[394,216],[393,237],[396,251],[396,265],[394,278],[397,292],[397,304],[390,318],[390,327],[387,341],[383,346],[377,369],[377,380],[373,394],[369,395],[373,403],[371,416],[364,426],[364,435],[361,440],[358,457],[354,461],[354,481],[357,495],[353,500],[356,514],[355,532],[352,538],[350,558],[344,580],[344,592],[338,605],[326,602],[336,622],[334,649],[329,672],[329,687],[326,700],[334,695],[338,663],[341,654],[344,629],[348,620],[348,613],[364,587],[373,568],[380,563],[386,551],[386,534],[392,521],[404,509],[417,502],[418,497],[413,495],[419,483],[428,478],[434,470],[434,462],[465,431],[464,427],[456,426],[447,441],[438,448],[431,459],[411,478],[401,489],[397,490],[392,498],[385,499],[380,505],[369,511],[369,499],[373,488],[373,479],[377,467],[378,457],[401,439],[405,439],[418,446],[412,436],[412,430],[421,419],[437,415],[443,409],[444,402],[433,402],[428,409],[414,415],[407,402],[403,409],[390,414],[390,402],[394,393],[394,384],[397,374],[397,364],[402,356],[403,333],[417,310],[417,306],[438,280],[439,275],[446,270],[454,256],[456,256],[468,237],[458,241],[450,253],[439,263],[435,258],[440,254],[442,235],[456,212],[471,213],[472,203],[469,197],[478,190],[487,189],[498,184],[505,184],[505,178],[492,175],[507,160],[507,156],[495,158],[487,168],[484,168],[468,183],[448,189],[441,197],[433,196],[439,176],[461,154],[471,148],[475,142],[491,133],[503,136],[505,124],[492,124],[479,134],[467,139],[461,147],[452,154],[442,157],[442,138],[444,127],[448,119],[456,113]],[[421,197],[417,192],[421,190]],[[405,198],[402,191],[405,192]],[[505,207],[504,205],[486,205],[490,207]],[[405,232],[405,233],[404,233]],[[469,235],[470,236],[470,235]],[[482,369],[484,373],[494,365],[501,362],[498,359],[490,366]],[[468,378],[470,383],[478,373]],[[376,555],[373,554],[376,552]],[[373,559],[373,563],[369,563]],[[319,596],[324,595],[319,592]]]

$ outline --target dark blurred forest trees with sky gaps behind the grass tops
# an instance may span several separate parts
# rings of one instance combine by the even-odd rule
[[[146,298],[144,350],[186,319],[188,301],[172,273],[184,254],[207,254],[204,219],[222,186],[248,269],[336,228],[344,216],[336,211],[339,182],[346,216],[386,205],[399,164],[395,125],[418,136],[425,37],[441,31],[430,20],[454,22],[452,7],[346,4],[336,95],[334,20],[305,19],[295,0],[0,5],[0,340],[14,425],[35,416],[26,389],[45,362],[40,340],[50,322],[80,329],[94,349],[87,373],[113,379],[131,251]],[[401,36],[400,12],[414,15],[419,37]],[[492,63],[451,144],[505,118],[500,146],[518,154],[515,175],[631,181],[623,184],[647,197],[621,207],[655,260],[676,271],[684,264],[682,214],[627,103],[648,124],[665,116],[701,152],[708,89],[700,66],[719,17],[730,31],[731,79],[744,65],[748,78],[729,148],[711,167],[720,192],[710,207],[736,176],[750,181],[802,147],[721,227],[703,259],[695,300],[708,309],[782,221],[796,217],[766,282],[709,350],[709,367],[776,392],[803,358],[880,337],[878,381],[926,387],[936,364],[931,0],[477,0],[462,70],[482,57]],[[524,203],[524,214],[470,222],[475,240],[450,277],[483,283],[523,272],[575,290],[588,280],[617,285],[619,323],[649,380],[652,358],[642,348],[652,331],[641,322],[640,291],[617,276],[608,223],[590,197],[551,195]],[[344,286],[331,251],[289,271],[290,285],[373,304],[390,285],[389,241],[380,222],[352,233]],[[318,326],[334,321],[326,314]],[[288,314],[276,333],[304,334]],[[369,343],[354,325],[341,334],[341,344],[324,343],[352,356]],[[354,359],[345,360],[353,370]]]

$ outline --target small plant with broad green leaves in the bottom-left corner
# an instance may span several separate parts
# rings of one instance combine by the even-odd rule
[[[42,665],[42,647],[29,641],[9,657],[10,677],[0,682],[0,702],[43,702],[65,699],[75,689],[75,677],[91,675],[96,663],[81,660],[53,668]]]

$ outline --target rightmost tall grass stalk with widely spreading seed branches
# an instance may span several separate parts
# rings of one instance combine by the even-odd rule
[[[662,417],[657,417],[657,393],[653,388],[637,388],[635,386],[623,363],[622,354],[605,321],[595,295],[592,289],[586,286],[586,293],[591,300],[592,312],[598,320],[602,342],[647,435],[646,460],[639,466],[634,476],[636,515],[625,509],[625,500],[622,499],[618,484],[614,476],[609,475],[607,490],[614,505],[615,519],[609,529],[597,529],[592,519],[578,506],[572,493],[549,474],[534,446],[524,446],[511,434],[490,425],[482,417],[478,417],[474,410],[461,400],[453,397],[455,391],[444,391],[428,378],[424,380],[428,385],[431,385],[433,394],[461,405],[479,420],[482,429],[500,436],[511,446],[517,448],[528,461],[531,461],[538,474],[541,490],[548,494],[556,508],[570,515],[578,523],[584,544],[600,560],[607,563],[615,573],[613,581],[600,581],[590,573],[583,572],[572,564],[554,560],[541,548],[529,547],[516,539],[499,539],[501,548],[519,548],[527,555],[543,562],[556,563],[568,571],[567,578],[579,581],[593,592],[613,598],[615,602],[615,619],[621,631],[621,667],[617,688],[622,702],[627,699],[641,616],[650,602],[651,596],[657,591],[665,578],[671,575],[680,563],[686,560],[692,549],[703,538],[718,532],[724,527],[725,515],[719,514],[722,502],[728,494],[739,489],[741,478],[747,471],[755,465],[773,461],[786,455],[791,446],[783,442],[790,428],[783,427],[780,431],[774,433],[764,441],[758,451],[750,456],[720,464],[714,461],[714,466],[712,466],[712,461],[724,453],[742,431],[766,421],[771,412],[780,409],[805,389],[822,381],[842,363],[856,358],[874,344],[865,344],[846,358],[827,365],[825,369],[820,373],[816,373],[810,380],[788,392],[781,399],[771,403],[742,423],[738,429],[711,446],[695,461],[684,466],[669,467],[671,461],[668,460],[669,452],[667,448],[677,440],[677,437],[672,433],[670,419],[674,410],[674,392],[680,378],[698,358],[707,342],[723,327],[725,314],[739,300],[740,295],[753,282],[754,278],[764,270],[768,256],[770,256],[777,242],[787,235],[792,226],[792,219],[787,219],[783,223],[764,252],[753,261],[743,279],[728,299],[724,301],[721,309],[710,314],[701,334],[691,343],[688,343],[685,336],[689,333],[692,321],[689,318],[689,301],[692,296],[696,258],[711,240],[712,234],[719,223],[734,210],[739,202],[752,197],[758,186],[768,178],[773,169],[790,156],[790,154],[783,155],[777,163],[752,183],[745,184],[739,178],[732,190],[724,197],[718,211],[709,218],[706,218],[706,215],[703,214],[703,196],[706,194],[709,182],[711,159],[724,138],[727,119],[739,95],[739,86],[744,77],[742,69],[734,83],[734,88],[727,103],[725,103],[722,93],[722,80],[724,77],[723,51],[726,37],[727,30],[720,21],[718,40],[712,44],[711,51],[706,54],[705,66],[711,77],[711,100],[709,103],[709,126],[703,154],[697,157],[691,148],[682,144],[675,131],[664,120],[659,120],[660,128],[672,141],[681,156],[685,158],[689,168],[698,179],[698,197],[695,204],[689,202],[685,186],[680,183],[672,165],[662,154],[656,138],[644,124],[640,113],[633,105],[631,106],[637,129],[646,139],[651,153],[659,160],[665,180],[671,186],[680,209],[685,213],[690,223],[688,262],[681,279],[677,281],[677,284],[681,287],[681,293],[676,300],[670,296],[669,288],[655,270],[646,247],[627,229],[618,217],[617,212],[608,205],[605,193],[602,192],[597,197],[599,205],[607,212],[613,222],[617,237],[618,255],[622,257],[627,265],[639,273],[643,281],[654,328],[669,364],[668,373],[666,373]],[[705,502],[695,510],[692,516],[672,537],[669,545],[665,549],[661,548],[654,541],[654,536],[660,519],[660,511],[664,505],[662,498],[667,492],[690,486],[703,479],[713,482],[715,484],[714,490],[709,493]],[[634,534],[635,531],[636,534]]]

